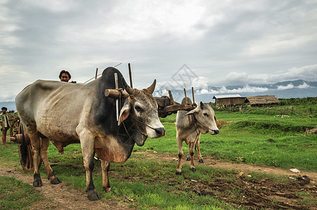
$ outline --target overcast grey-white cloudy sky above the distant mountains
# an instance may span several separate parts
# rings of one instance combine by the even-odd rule
[[[0,102],[119,63],[139,88],[175,83],[184,64],[196,87],[316,81],[317,1],[0,0]]]

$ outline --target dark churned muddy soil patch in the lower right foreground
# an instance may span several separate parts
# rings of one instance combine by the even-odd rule
[[[225,202],[250,209],[306,209],[308,204],[299,197],[297,192],[309,191],[317,196],[316,186],[299,186],[296,180],[288,184],[275,183],[271,179],[248,179],[247,176],[236,176],[234,182],[216,179],[206,183],[188,183],[189,190],[198,195],[212,195]],[[226,192],[236,193],[226,196]]]

